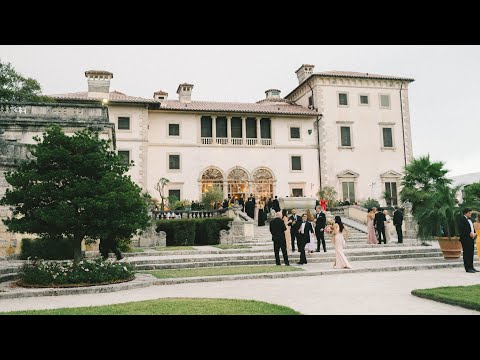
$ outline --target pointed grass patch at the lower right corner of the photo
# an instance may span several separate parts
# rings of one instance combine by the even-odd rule
[[[416,289],[412,295],[480,311],[480,285]]]

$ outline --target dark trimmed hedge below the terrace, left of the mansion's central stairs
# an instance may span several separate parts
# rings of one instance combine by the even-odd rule
[[[167,246],[217,245],[220,230],[228,230],[230,218],[158,220],[157,231],[167,233]]]

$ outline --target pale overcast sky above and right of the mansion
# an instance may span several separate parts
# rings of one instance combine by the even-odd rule
[[[110,90],[152,98],[194,84],[193,100],[255,102],[286,96],[295,70],[414,78],[413,153],[444,161],[449,176],[480,172],[480,46],[460,45],[0,45],[0,60],[38,80],[44,94],[87,91],[86,70],[113,72]]]

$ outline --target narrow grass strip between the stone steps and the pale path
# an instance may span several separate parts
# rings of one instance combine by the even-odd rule
[[[303,269],[294,266],[228,266],[228,267],[208,267],[195,269],[165,269],[153,270],[145,272],[153,275],[159,279],[171,279],[181,277],[195,277],[195,276],[218,276],[218,275],[240,275],[240,274],[259,274],[272,272],[289,272],[289,271],[303,271]]]

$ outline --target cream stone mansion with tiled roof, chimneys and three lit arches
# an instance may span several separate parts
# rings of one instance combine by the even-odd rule
[[[224,197],[316,197],[333,186],[339,200],[375,197],[397,204],[403,168],[412,159],[408,85],[413,79],[368,73],[297,71],[287,96],[267,90],[256,103],[196,100],[180,84],[178,99],[110,92],[113,74],[87,71],[88,91],[53,95],[58,102],[104,104],[118,153],[132,179],[154,198],[198,200],[213,185]],[[388,192],[391,198],[382,199]],[[383,202],[383,203],[382,203]]]

